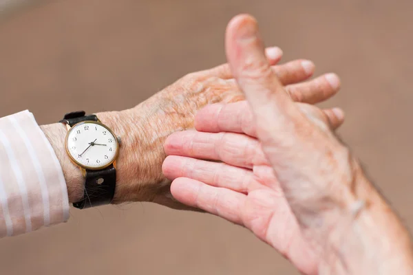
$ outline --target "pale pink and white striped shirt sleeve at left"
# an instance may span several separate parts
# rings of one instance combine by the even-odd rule
[[[0,237],[69,218],[63,171],[29,111],[0,118]]]

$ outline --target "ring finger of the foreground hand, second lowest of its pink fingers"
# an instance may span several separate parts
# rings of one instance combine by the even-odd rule
[[[189,177],[205,184],[243,193],[256,189],[258,186],[252,170],[222,162],[208,162],[178,155],[169,155],[165,159],[162,164],[162,173],[169,180]]]

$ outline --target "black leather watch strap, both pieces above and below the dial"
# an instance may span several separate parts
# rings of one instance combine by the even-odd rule
[[[85,111],[67,113],[60,122],[73,126],[78,122],[86,120],[98,121],[96,115],[85,114]],[[115,188],[116,168],[114,168],[113,164],[102,170],[86,170],[83,199],[73,203],[73,206],[83,209],[109,204],[114,198]]]

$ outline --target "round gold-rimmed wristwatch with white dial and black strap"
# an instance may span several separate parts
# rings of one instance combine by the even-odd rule
[[[85,177],[83,199],[73,203],[75,208],[80,209],[112,202],[120,146],[120,137],[100,122],[96,115],[85,114],[85,111],[67,113],[60,121],[67,127],[67,155]]]

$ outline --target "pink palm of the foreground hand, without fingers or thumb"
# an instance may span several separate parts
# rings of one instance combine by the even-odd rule
[[[254,169],[255,189],[248,192],[240,208],[244,225],[305,274],[317,274],[313,250],[301,235],[297,220],[291,212],[284,192],[270,166]]]

